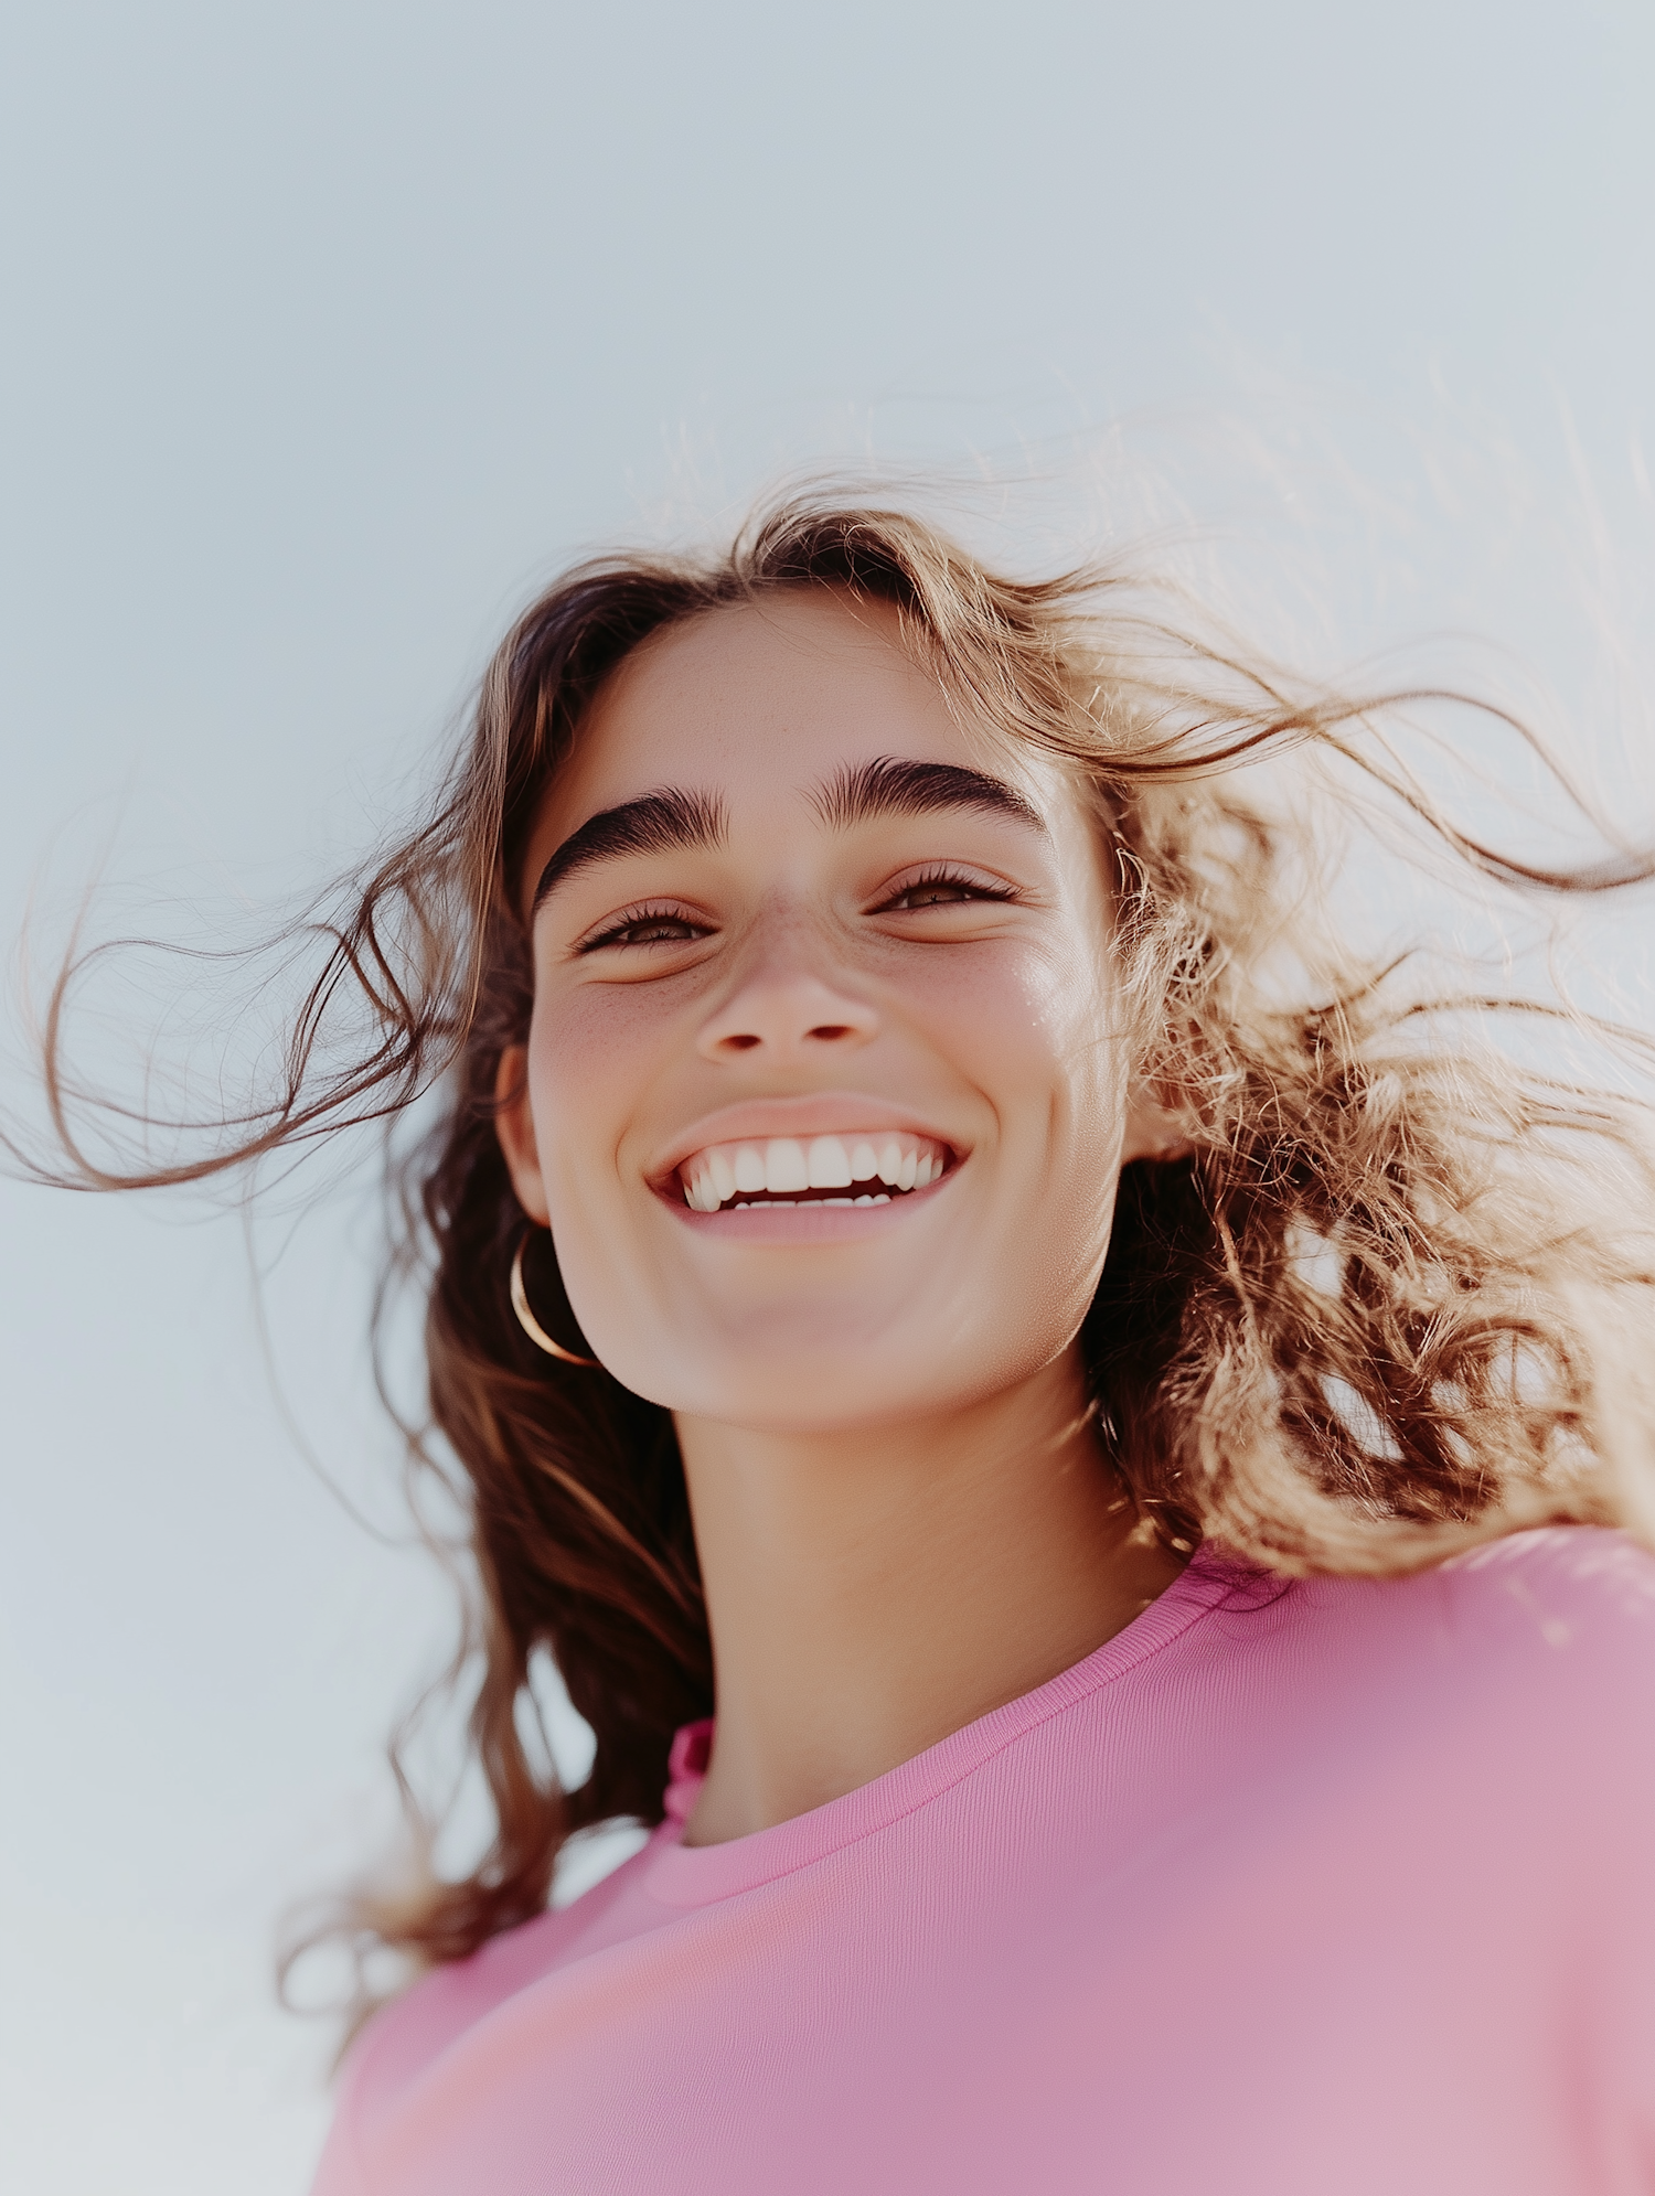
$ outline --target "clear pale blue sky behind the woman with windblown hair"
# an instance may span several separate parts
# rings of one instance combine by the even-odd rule
[[[820,463],[976,481],[1013,547],[1211,520],[1317,575],[1323,654],[1477,628],[1635,747],[1653,90],[1642,0],[15,4],[7,940],[99,861],[248,933],[563,560]],[[7,1184],[0,1247],[7,2187],[290,2196],[275,1922],[389,1829],[453,1636],[371,1195],[262,1232],[275,1377],[235,1214]]]

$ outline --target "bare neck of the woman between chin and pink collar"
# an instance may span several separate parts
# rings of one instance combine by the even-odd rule
[[[1180,1561],[1103,1463],[1079,1359],[936,1419],[679,1419],[719,1724],[688,1825],[820,1807],[1079,1662]]]

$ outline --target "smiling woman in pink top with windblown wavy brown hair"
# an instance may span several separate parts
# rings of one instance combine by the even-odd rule
[[[1646,1173],[1332,942],[1363,736],[809,498],[519,621],[211,1162],[448,1074],[497,1836],[316,2196],[1655,2187]]]

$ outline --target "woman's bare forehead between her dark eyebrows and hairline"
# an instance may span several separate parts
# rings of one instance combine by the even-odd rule
[[[604,681],[545,795],[536,843],[655,786],[738,813],[840,766],[899,755],[1009,777],[1044,806],[1035,758],[949,707],[897,610],[798,589],[653,635]]]

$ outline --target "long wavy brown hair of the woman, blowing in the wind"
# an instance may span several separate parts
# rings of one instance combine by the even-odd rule
[[[495,1083],[532,1004],[519,865],[591,696],[648,635],[798,586],[895,604],[963,716],[1059,753],[1097,804],[1136,1041],[1189,1157],[1125,1170],[1081,1344],[1106,1452],[1165,1539],[1380,1572],[1519,1524],[1648,1517],[1598,1331],[1618,1302],[1646,1302],[1651,1274],[1589,1195],[1615,1177],[1622,1214],[1651,1210],[1626,1109],[1468,1037],[1501,1001],[1420,999],[1400,968],[1328,942],[1312,839],[1268,819],[1242,766],[1306,747],[1343,758],[1519,887],[1607,887],[1646,861],[1501,859],[1371,740],[1380,712],[1429,696],[1292,687],[1125,571],[1020,584],[910,516],[820,496],[782,501],[727,556],[582,564],[501,643],[422,826],[349,881],[266,1109],[207,1157],[99,1168],[62,1069],[73,971],[46,1023],[81,1184],[193,1179],[444,1091],[398,1173],[400,1254],[429,1274],[431,1419],[468,1482],[470,1737],[495,1836],[462,1882],[426,1873],[354,1906],[363,1941],[420,1961],[538,1913],[571,1831],[657,1820],[673,1730],[712,1708],[670,1414],[547,1359],[512,1315],[523,1217]],[[596,1735],[571,1792],[519,1726],[536,1649]]]

